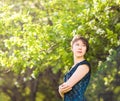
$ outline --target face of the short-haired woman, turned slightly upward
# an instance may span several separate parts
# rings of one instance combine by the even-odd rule
[[[87,47],[82,40],[76,41],[72,46],[72,51],[76,57],[84,57]]]

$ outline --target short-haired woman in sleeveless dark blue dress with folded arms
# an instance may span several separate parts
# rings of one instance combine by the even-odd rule
[[[74,57],[74,65],[64,77],[64,83],[59,86],[59,93],[64,101],[86,101],[85,90],[90,80],[90,65],[85,60],[85,54],[89,49],[88,41],[79,35],[75,35],[71,41]]]

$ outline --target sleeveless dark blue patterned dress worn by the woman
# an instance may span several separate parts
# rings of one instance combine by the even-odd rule
[[[89,67],[89,72],[77,83],[73,86],[72,90],[65,93],[64,95],[64,101],[86,101],[84,97],[85,90],[88,86],[89,80],[90,80],[90,64],[88,61],[83,60],[79,63],[77,63],[64,77],[64,82],[66,82],[72,74],[75,72],[75,70],[78,68],[78,66],[86,64]]]

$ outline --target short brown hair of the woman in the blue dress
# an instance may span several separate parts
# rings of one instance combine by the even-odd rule
[[[86,52],[88,52],[89,50],[89,43],[88,43],[88,40],[80,35],[75,35],[71,41],[71,46],[73,46],[73,44],[78,41],[78,40],[81,40],[87,47],[87,50]]]

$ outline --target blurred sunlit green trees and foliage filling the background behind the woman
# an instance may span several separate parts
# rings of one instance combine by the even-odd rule
[[[120,101],[120,0],[1,0],[0,101],[62,101],[75,34],[90,43],[88,101]]]

